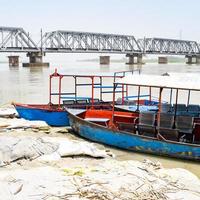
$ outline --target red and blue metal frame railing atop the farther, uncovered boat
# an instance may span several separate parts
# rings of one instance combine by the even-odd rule
[[[131,70],[131,71],[119,71],[115,72],[114,75],[63,75],[57,73],[57,70],[53,74],[50,75],[50,84],[49,84],[49,102],[52,103],[52,96],[57,96],[58,97],[58,105],[61,105],[63,100],[66,99],[94,99],[94,90],[99,90],[99,98],[101,101],[103,101],[103,95],[104,94],[113,94],[113,85],[106,85],[104,84],[105,78],[111,79],[111,82],[115,81],[117,78],[123,78],[127,74],[133,74],[135,72],[139,72],[140,70]],[[57,92],[52,92],[52,78],[58,78],[59,79],[59,84],[58,84],[58,91]],[[63,78],[74,78],[74,91],[73,92],[61,92],[62,91],[62,79]],[[91,80],[90,83],[80,83],[78,82],[79,79],[81,78],[89,78]],[[92,88],[92,93],[90,97],[81,97],[78,96],[78,88],[79,87],[91,87]],[[117,87],[117,90],[115,91],[116,93],[121,93],[122,98],[128,96],[128,90],[124,86],[119,86]],[[92,102],[92,101],[91,101]]]

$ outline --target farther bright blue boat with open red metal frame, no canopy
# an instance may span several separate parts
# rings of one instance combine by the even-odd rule
[[[113,91],[103,91],[104,88],[109,89],[113,86],[103,85],[103,79],[114,79],[121,78],[125,76],[126,72],[116,72],[114,75],[63,75],[57,73],[57,70],[50,75],[49,79],[49,103],[48,104],[21,104],[13,103],[19,116],[27,120],[42,120],[45,121],[50,126],[69,126],[68,114],[65,111],[66,108],[77,108],[77,109],[86,109],[90,107],[95,107],[96,109],[111,109],[111,103],[103,101],[103,94],[109,94]],[[132,71],[131,71],[132,73]],[[119,74],[119,75],[118,75]],[[122,74],[122,75],[121,75]],[[57,78],[59,81],[58,92],[52,92],[52,78]],[[74,92],[61,92],[61,85],[63,78],[72,78],[74,79]],[[78,79],[89,79],[91,83],[78,83]],[[98,82],[95,80],[98,79]],[[78,87],[92,87],[92,94],[90,97],[81,97],[78,96],[77,89]],[[100,99],[95,98],[94,89],[99,89]],[[118,91],[122,92],[123,91]],[[52,97],[58,97],[58,103],[52,103]]]

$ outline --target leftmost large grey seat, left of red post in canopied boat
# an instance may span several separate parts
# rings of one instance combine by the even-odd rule
[[[139,123],[137,125],[137,130],[139,134],[155,137],[155,116],[156,114],[153,112],[141,112],[139,114]]]

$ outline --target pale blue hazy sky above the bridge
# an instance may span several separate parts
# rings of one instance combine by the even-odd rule
[[[200,0],[0,0],[0,26],[200,41]]]

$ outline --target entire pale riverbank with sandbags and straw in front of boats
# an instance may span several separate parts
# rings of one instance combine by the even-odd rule
[[[0,199],[200,199],[200,180],[187,170],[119,161],[65,128],[0,122]]]

